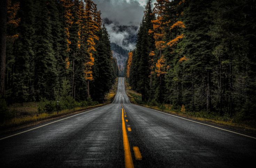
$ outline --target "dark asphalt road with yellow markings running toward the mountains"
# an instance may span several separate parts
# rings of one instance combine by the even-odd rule
[[[218,127],[218,128],[216,128]],[[255,167],[256,139],[129,102],[1,135],[0,167]]]

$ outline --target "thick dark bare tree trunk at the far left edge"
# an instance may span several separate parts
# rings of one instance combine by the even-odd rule
[[[0,98],[5,93],[7,0],[0,1]]]

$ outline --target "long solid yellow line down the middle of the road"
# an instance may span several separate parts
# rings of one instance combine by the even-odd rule
[[[123,130],[123,143],[124,143],[124,164],[125,168],[134,168],[132,162],[132,154],[130,150],[130,144],[126,133],[125,122],[124,122],[124,110],[122,109],[122,130]]]

